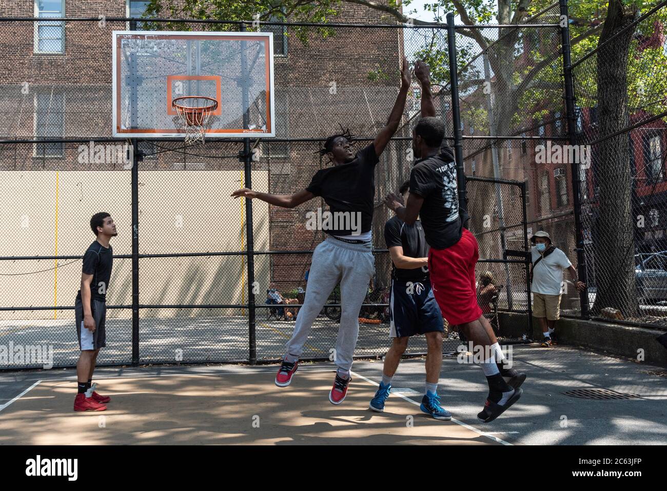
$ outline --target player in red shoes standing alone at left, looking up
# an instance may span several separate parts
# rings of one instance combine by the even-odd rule
[[[105,328],[107,290],[111,279],[113,249],[109,240],[118,235],[116,225],[109,213],[95,213],[90,227],[97,239],[83,255],[81,290],[74,302],[74,315],[81,354],[77,362],[77,396],[75,411],[103,411],[109,396],[100,396],[95,391],[93,372],[100,348],[107,346]]]

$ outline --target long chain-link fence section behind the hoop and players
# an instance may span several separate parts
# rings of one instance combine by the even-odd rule
[[[341,125],[356,135],[357,149],[370,143],[398,95],[402,55],[430,63],[436,115],[446,122],[448,141],[461,152],[457,156],[471,177],[469,226],[480,242],[478,276],[489,271],[498,286],[496,298],[484,298],[482,308],[496,321],[499,311],[530,316],[526,262],[512,251],[525,252],[530,223],[544,221],[534,213],[534,169],[527,155],[545,136],[535,115],[550,114],[546,121],[554,125],[554,137],[562,134],[561,126],[556,128],[564,120],[560,8],[551,5],[525,26],[455,27],[452,18],[456,51],[451,53],[444,24],[311,30],[261,25],[260,30],[273,31],[277,50],[277,137],[209,140],[205,147],[140,140],[136,164],[126,159],[127,143],[109,137],[111,33],[133,21],[49,20],[54,32],[47,43],[35,35],[45,21],[3,19],[0,179],[8,189],[0,240],[3,341],[53,346],[56,366],[75,362],[73,300],[81,256],[94,238],[90,216],[105,210],[119,235],[112,241],[109,344],[99,363],[279,358],[303,302],[312,251],[323,239],[322,231],[306,226],[306,213],[325,203],[283,209],[253,200],[249,215],[247,203],[229,194],[249,177],[258,191],[304,189],[315,171],[330,165],[319,149]],[[139,29],[239,28],[213,21],[139,24]],[[458,79],[450,76],[451,61]],[[452,87],[458,99],[452,99]],[[383,200],[410,175],[420,95],[415,81],[400,129],[376,167],[376,273],[360,313],[370,322],[360,328],[356,356],[382,356],[389,346],[391,262],[383,230],[391,213]],[[294,306],[265,303],[273,288],[295,300]],[[313,325],[304,358],[329,358],[337,316],[338,289]],[[503,326],[495,327],[503,336]],[[452,352],[458,344],[449,333],[444,350]],[[415,338],[408,353],[425,350],[425,340]],[[32,366],[16,360],[7,365]]]

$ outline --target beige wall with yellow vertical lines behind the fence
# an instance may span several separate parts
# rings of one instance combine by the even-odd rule
[[[139,253],[244,250],[244,207],[229,197],[241,178],[240,170],[139,171]],[[265,191],[267,179],[267,172],[253,171],[253,189]],[[0,193],[0,256],[83,255],[95,240],[89,221],[97,211],[108,211],[117,224],[118,236],[111,241],[114,255],[131,254],[129,171],[2,171],[0,180],[5,189]],[[253,201],[253,233],[255,250],[267,250],[268,205],[258,200]],[[0,261],[0,272],[14,275],[0,276],[0,305],[73,305],[81,260],[60,259],[55,266],[55,260]],[[257,302],[263,303],[264,279],[269,277],[265,258],[255,261],[255,277]],[[241,256],[139,260],[141,304],[237,304],[247,302],[246,289]],[[114,260],[107,304],[131,304],[130,259]],[[181,315],[197,311],[183,310]],[[142,316],[158,314],[174,312],[142,311]],[[58,318],[72,315],[61,311]],[[4,320],[53,317],[53,310],[0,312]]]

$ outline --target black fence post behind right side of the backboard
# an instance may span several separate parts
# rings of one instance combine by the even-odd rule
[[[239,25],[239,30],[245,32],[245,23]],[[243,128],[249,127],[249,97],[247,80],[247,57],[245,54],[245,41],[241,41],[241,93],[243,99]],[[243,185],[252,188],[251,181],[252,155],[250,151],[250,139],[243,138]],[[252,199],[245,198],[245,243],[247,250],[247,278],[248,278],[248,362],[257,364],[257,343],[255,320],[255,243],[253,237],[252,223]]]

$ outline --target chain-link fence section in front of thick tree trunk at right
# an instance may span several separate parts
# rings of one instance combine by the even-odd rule
[[[664,1],[615,12],[572,65],[590,315],[663,327],[666,26]]]

